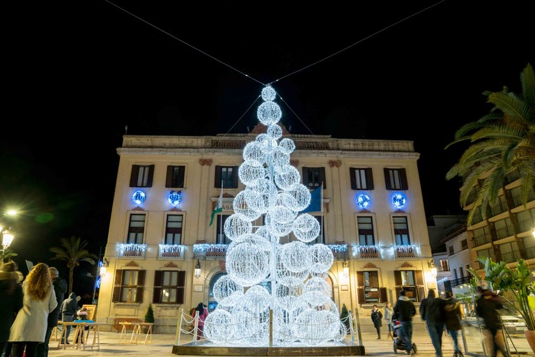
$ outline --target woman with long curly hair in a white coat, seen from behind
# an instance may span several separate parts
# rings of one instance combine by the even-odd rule
[[[11,357],[35,357],[37,345],[45,341],[48,314],[56,308],[56,293],[47,264],[39,263],[22,282],[22,309],[11,326],[9,342],[13,343]]]

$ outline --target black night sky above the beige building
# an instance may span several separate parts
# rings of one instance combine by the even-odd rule
[[[48,248],[69,236],[98,254],[125,126],[247,132],[271,82],[294,134],[414,141],[426,216],[460,213],[444,176],[465,146],[444,147],[490,111],[483,91],[520,91],[529,1],[367,2],[10,4],[0,208],[22,211],[15,260],[66,273]]]

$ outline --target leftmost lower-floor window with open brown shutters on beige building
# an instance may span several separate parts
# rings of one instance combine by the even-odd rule
[[[143,287],[145,284],[145,271],[122,270],[115,271],[114,303],[143,303]]]

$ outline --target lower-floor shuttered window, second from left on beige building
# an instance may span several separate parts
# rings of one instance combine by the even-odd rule
[[[185,287],[185,271],[155,271],[153,302],[183,304]]]

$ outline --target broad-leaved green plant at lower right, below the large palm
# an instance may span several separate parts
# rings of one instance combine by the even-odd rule
[[[495,262],[492,258],[478,257],[477,260],[485,266],[485,278],[482,279],[476,271],[468,268],[470,274],[474,275],[475,284],[481,280],[490,282],[494,291],[501,294],[504,291],[511,291],[518,303],[511,304],[522,315],[529,331],[535,331],[535,282],[532,282],[532,271],[524,259],[518,259],[515,268],[509,268],[505,261]]]

